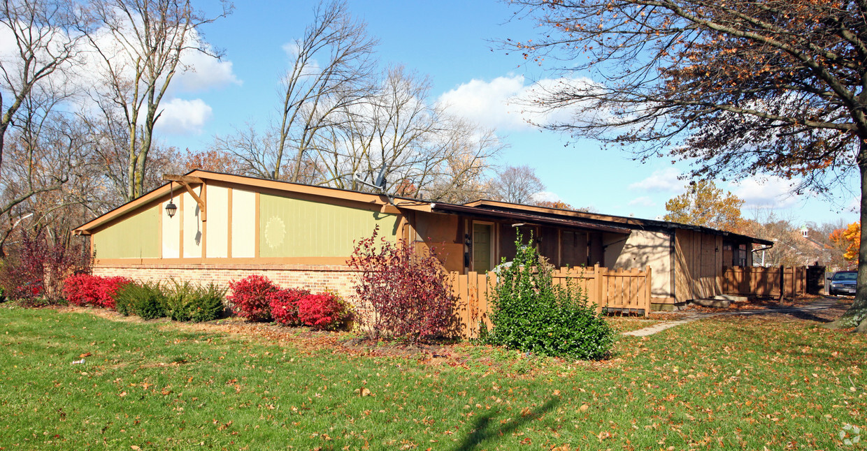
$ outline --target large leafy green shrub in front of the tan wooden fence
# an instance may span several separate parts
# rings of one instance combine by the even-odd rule
[[[531,240],[532,241],[532,240]],[[555,287],[553,267],[536,248],[515,242],[512,265],[500,271],[492,299],[493,330],[486,341],[547,356],[601,359],[614,331],[578,287]]]

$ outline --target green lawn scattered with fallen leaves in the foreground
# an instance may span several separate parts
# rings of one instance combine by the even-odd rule
[[[621,337],[602,363],[373,358],[49,309],[0,325],[0,449],[859,449],[839,433],[867,426],[867,339],[801,320]]]

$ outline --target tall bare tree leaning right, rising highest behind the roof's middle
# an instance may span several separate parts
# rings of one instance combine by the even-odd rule
[[[277,146],[270,177],[300,181],[308,152],[336,112],[355,106],[369,91],[376,42],[366,25],[349,15],[346,3],[320,3],[302,38],[293,42],[294,61],[284,78]],[[294,151],[288,177],[281,174],[286,154]]]

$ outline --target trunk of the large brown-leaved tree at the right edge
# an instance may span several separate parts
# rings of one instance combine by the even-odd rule
[[[867,139],[860,139],[858,172],[861,175],[861,219],[867,220]],[[828,323],[829,329],[857,327],[856,332],[867,333],[867,229],[861,228],[861,245],[858,247],[858,279],[855,302],[836,321]]]

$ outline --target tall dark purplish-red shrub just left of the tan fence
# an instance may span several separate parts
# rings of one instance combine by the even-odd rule
[[[411,243],[394,243],[374,234],[355,242],[349,266],[360,273],[355,293],[373,306],[363,318],[368,331],[419,342],[445,332],[454,296],[436,250],[416,253]]]

